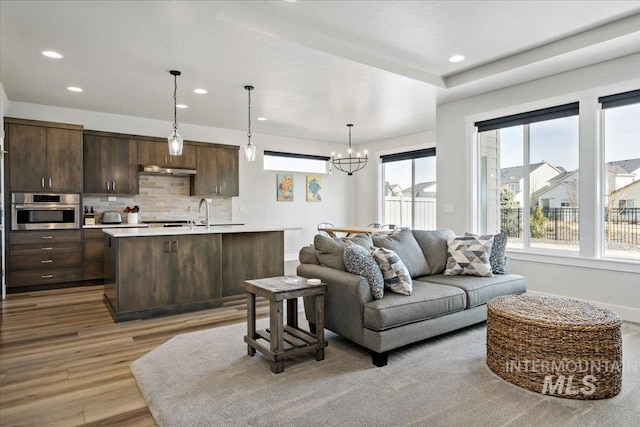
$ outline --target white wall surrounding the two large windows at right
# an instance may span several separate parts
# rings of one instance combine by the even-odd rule
[[[495,92],[439,105],[436,109],[438,227],[451,228],[456,233],[474,231],[473,121],[500,117],[554,104],[573,101],[593,102],[598,95],[613,94],[640,87],[640,54],[629,55],[578,70],[561,73]],[[582,109],[581,102],[581,109]],[[581,120],[582,121],[582,120]],[[585,185],[580,200],[585,206],[596,195],[590,188],[597,184],[597,121],[589,117],[582,127],[591,127],[584,135],[580,151],[580,180]],[[586,165],[587,167],[583,167]],[[585,171],[583,173],[582,171]],[[585,176],[587,175],[587,176]],[[583,192],[584,191],[584,192]],[[454,207],[453,213],[443,213],[443,205]],[[595,224],[596,214],[590,219]],[[585,232],[590,227],[585,228]],[[512,255],[514,257],[515,255]],[[578,260],[579,261],[579,260]],[[512,271],[527,276],[529,289],[594,301],[618,311],[623,318],[640,322],[640,268],[636,265],[587,260],[578,262],[569,257],[518,256]]]

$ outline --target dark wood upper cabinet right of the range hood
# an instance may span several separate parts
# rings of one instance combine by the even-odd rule
[[[238,147],[196,147],[196,176],[191,177],[192,196],[233,197],[240,193]]]

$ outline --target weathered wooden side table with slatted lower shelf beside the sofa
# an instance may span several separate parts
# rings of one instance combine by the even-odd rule
[[[247,292],[247,353],[252,356],[258,350],[271,364],[271,371],[284,371],[284,359],[303,351],[314,350],[316,360],[324,360],[324,294],[327,285],[310,285],[298,276],[279,276],[244,282]],[[269,300],[269,329],[256,331],[256,295]],[[315,334],[298,325],[298,298],[315,298]],[[287,323],[283,319],[283,302],[287,301]],[[263,344],[264,340],[269,346]]]

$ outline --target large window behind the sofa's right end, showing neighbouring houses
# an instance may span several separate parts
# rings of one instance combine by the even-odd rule
[[[479,228],[508,247],[579,249],[578,104],[476,123]]]

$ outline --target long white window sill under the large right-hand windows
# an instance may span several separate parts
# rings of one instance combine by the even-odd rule
[[[511,260],[537,262],[542,264],[567,265],[571,267],[592,268],[595,270],[610,270],[625,273],[640,273],[640,262],[632,260],[614,260],[602,258],[584,258],[577,254],[531,253],[518,250],[507,250]]]

